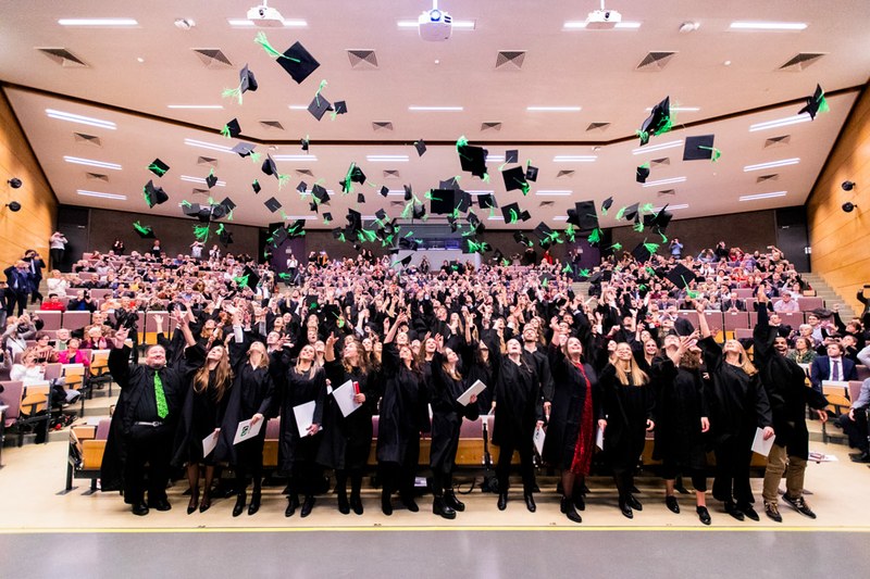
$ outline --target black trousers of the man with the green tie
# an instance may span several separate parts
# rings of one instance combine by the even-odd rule
[[[165,499],[170,480],[173,428],[170,425],[134,425],[125,439],[127,456],[124,462],[124,502],[138,504],[145,500],[146,476],[148,500],[153,502]]]

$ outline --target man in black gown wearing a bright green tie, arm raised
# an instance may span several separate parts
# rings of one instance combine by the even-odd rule
[[[124,502],[133,505],[133,514],[145,516],[149,507],[171,508],[166,484],[175,423],[184,402],[183,374],[166,367],[162,345],[148,348],[145,364],[129,364],[130,349],[124,343],[127,332],[123,328],[115,333],[109,354],[109,370],[121,387],[121,397],[112,416],[100,477],[103,491],[123,490]]]

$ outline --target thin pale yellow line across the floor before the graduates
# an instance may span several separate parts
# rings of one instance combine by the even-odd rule
[[[746,526],[746,527],[698,527],[698,526],[638,526],[638,527],[605,527],[605,526],[470,526],[470,527],[425,527],[425,526],[381,526],[371,527],[153,527],[153,528],[21,528],[0,529],[0,534],[87,534],[87,533],[250,533],[250,532],[365,532],[365,531],[596,531],[596,532],[649,532],[649,531],[703,531],[703,532],[870,532],[870,527],[782,527],[782,526]]]

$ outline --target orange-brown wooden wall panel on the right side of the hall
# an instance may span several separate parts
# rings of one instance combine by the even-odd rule
[[[857,184],[852,191],[843,181]],[[850,201],[852,213],[842,210]],[[807,201],[812,270],[860,311],[870,284],[870,91],[865,87]]]

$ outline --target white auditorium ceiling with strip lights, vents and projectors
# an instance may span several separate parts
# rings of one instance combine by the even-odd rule
[[[227,17],[244,17],[248,2],[147,3],[120,0],[112,3],[45,1],[27,3],[0,0],[0,80],[36,151],[58,198],[63,203],[144,211],[141,187],[153,178],[170,193],[170,201],[156,214],[181,215],[184,199],[202,202],[208,196],[194,194],[204,188],[182,180],[182,176],[206,177],[210,167],[199,156],[216,159],[215,174],[226,182],[211,194],[216,201],[229,196],[238,204],[235,222],[264,225],[277,221],[263,201],[276,197],[288,216],[311,215],[309,198],[295,191],[299,180],[318,179],[338,191],[351,162],[359,164],[371,184],[401,190],[410,184],[422,193],[439,179],[460,174],[453,147],[464,135],[471,144],[484,144],[490,154],[519,149],[520,161],[540,168],[537,182],[523,198],[520,191],[506,193],[498,167],[488,163],[493,175],[485,184],[462,174],[468,190],[493,190],[499,204],[520,203],[538,221],[551,226],[560,222],[575,201],[601,201],[614,197],[617,207],[633,202],[666,202],[688,205],[674,211],[674,218],[723,214],[801,204],[811,189],[843,123],[870,73],[870,9],[866,0],[797,2],[794,0],[730,0],[699,5],[694,0],[638,2],[611,1],[623,20],[641,22],[637,30],[563,30],[566,21],[582,21],[597,8],[594,0],[532,2],[521,0],[442,0],[455,20],[472,20],[473,30],[455,30],[446,42],[425,42],[415,29],[400,29],[398,20],[413,20],[428,3],[425,0],[364,2],[279,1],[271,5],[285,18],[302,18],[303,28],[265,29],[275,48],[284,50],[299,40],[321,67],[297,85],[258,45],[257,29],[233,28]],[[129,29],[69,28],[61,17],[132,17],[138,26]],[[196,26],[181,30],[177,17],[191,18]],[[689,34],[679,32],[684,21],[699,23]],[[731,32],[732,21],[805,22],[801,32]],[[65,48],[87,67],[63,67],[36,48]],[[194,48],[221,49],[232,66],[209,68]],[[374,50],[378,67],[351,67],[347,50]],[[520,70],[496,68],[499,50],[526,51]],[[676,54],[658,72],[635,68],[651,51]],[[803,71],[780,67],[799,52],[823,53]],[[141,59],[144,62],[138,62]],[[437,61],[437,64],[436,64]],[[724,62],[730,61],[730,65]],[[245,95],[244,104],[222,99],[224,88],[238,83],[238,70],[248,64],[260,89]],[[318,123],[306,111],[289,105],[307,104],[322,79],[328,81],[323,95],[346,100],[348,114]],[[800,109],[796,99],[809,96],[819,83],[829,95],[831,112],[812,123],[749,131],[755,123],[793,116]],[[722,151],[717,163],[682,161],[682,147],[633,154],[637,148],[634,130],[648,114],[646,108],[670,95],[672,105],[699,108],[676,112],[674,130],[654,137],[647,148],[716,134]],[[784,104],[785,103],[785,104]],[[221,110],[178,110],[170,104],[214,104]],[[462,112],[411,112],[409,105],[457,105]],[[530,105],[580,106],[579,112],[530,112]],[[115,130],[49,118],[46,109],[85,115],[116,124]],[[237,117],[243,136],[265,153],[301,154],[298,141],[308,135],[310,153],[316,161],[278,162],[290,184],[278,191],[277,180],[260,173],[259,164],[235,154],[185,144],[185,139],[232,146],[220,128]],[[161,118],[170,119],[163,122]],[[263,127],[262,121],[277,121],[284,130]],[[391,131],[375,131],[372,123],[390,122]],[[482,123],[501,123],[498,131],[482,131]],[[587,130],[591,123],[610,123],[605,130]],[[685,125],[688,125],[685,127]],[[101,147],[83,143],[74,133],[99,137]],[[766,148],[766,139],[790,136],[786,144]],[[430,144],[418,158],[412,143]],[[442,142],[443,144],[434,144]],[[594,147],[600,147],[594,150]],[[405,154],[407,162],[366,161],[372,154]],[[595,155],[592,163],[554,161],[555,155]],[[64,162],[64,155],[117,163],[123,169],[101,169]],[[147,171],[160,158],[171,171],[158,179]],[[668,158],[669,164],[654,166],[649,181],[685,177],[685,181],[660,187],[642,187],[634,180],[635,166],[651,159]],[[799,159],[794,165],[746,172],[759,163]],[[313,178],[296,173],[310,169]],[[397,169],[398,178],[386,178]],[[560,171],[575,171],[557,178]],[[87,173],[108,176],[108,181],[89,179]],[[762,175],[773,180],[756,182]],[[254,196],[249,184],[258,178],[263,191]],[[390,216],[401,213],[400,196],[386,200],[369,184],[357,186],[355,194],[337,193],[330,211],[341,217],[346,207],[372,215],[381,206]],[[658,191],[674,189],[673,196]],[[127,196],[126,201],[83,197],[77,190]],[[571,191],[562,196],[539,191]],[[356,192],[366,203],[357,206]],[[784,197],[739,202],[741,196],[787,191]],[[539,206],[552,201],[551,206]],[[487,212],[483,212],[487,213]],[[616,225],[616,211],[602,219]],[[326,227],[309,222],[308,227]],[[488,227],[510,227],[498,221]]]

